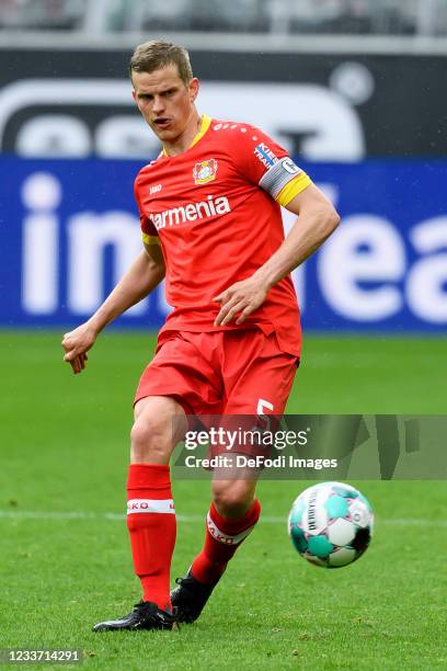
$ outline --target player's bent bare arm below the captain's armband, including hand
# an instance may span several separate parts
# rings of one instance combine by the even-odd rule
[[[216,296],[221,304],[216,326],[242,323],[265,300],[268,291],[295,268],[306,261],[340,221],[332,203],[312,183],[298,193],[287,205],[298,216],[294,227],[276,252],[248,280],[237,282]]]

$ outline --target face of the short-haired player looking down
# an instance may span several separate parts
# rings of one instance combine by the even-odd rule
[[[153,72],[133,72],[134,99],[145,121],[162,143],[172,143],[195,118],[198,80],[186,86],[175,65]]]

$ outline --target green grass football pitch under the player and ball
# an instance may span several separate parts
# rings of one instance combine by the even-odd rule
[[[140,599],[125,477],[131,398],[154,338],[107,332],[79,376],[61,363],[58,332],[2,332],[0,343],[0,648],[79,649],[83,667],[126,671],[447,668],[439,480],[352,482],[375,509],[375,537],[336,570],[308,565],[286,534],[311,482],[262,481],[260,524],[195,624],[93,634]],[[440,338],[308,334],[287,410],[446,413],[446,379]],[[175,578],[200,548],[209,484],[173,488]]]

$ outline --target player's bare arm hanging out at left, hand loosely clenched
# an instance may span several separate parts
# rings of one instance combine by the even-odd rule
[[[85,367],[87,352],[103,328],[146,298],[164,277],[164,259],[158,239],[146,236],[145,249],[92,317],[62,340],[64,361],[73,373]]]

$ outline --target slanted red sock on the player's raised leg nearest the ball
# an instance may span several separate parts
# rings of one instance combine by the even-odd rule
[[[216,582],[253,530],[261,514],[261,505],[255,499],[252,508],[243,518],[227,520],[211,503],[206,519],[205,544],[202,553],[193,561],[192,572],[199,582]]]

